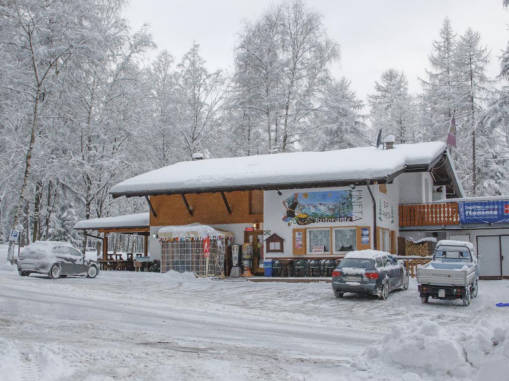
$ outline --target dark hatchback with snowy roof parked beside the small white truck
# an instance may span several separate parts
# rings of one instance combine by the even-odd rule
[[[408,289],[408,273],[402,261],[385,251],[351,251],[332,272],[336,298],[344,293],[363,293],[387,299],[397,289]]]

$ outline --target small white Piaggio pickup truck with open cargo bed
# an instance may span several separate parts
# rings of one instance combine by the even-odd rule
[[[462,299],[470,305],[479,288],[479,260],[470,242],[441,240],[433,259],[417,267],[417,283],[422,303],[433,299]]]

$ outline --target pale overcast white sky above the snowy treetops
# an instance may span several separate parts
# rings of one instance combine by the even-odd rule
[[[158,49],[177,60],[196,41],[211,70],[232,69],[234,46],[242,21],[253,19],[270,0],[131,0],[125,12],[134,29],[143,23]],[[429,66],[432,41],[445,16],[462,34],[469,26],[479,31],[492,54],[489,76],[499,72],[498,56],[509,40],[509,12],[501,0],[307,0],[324,15],[328,35],[341,46],[334,76],[352,81],[359,98],[373,91],[387,68],[404,70],[410,90],[420,91],[418,76]]]

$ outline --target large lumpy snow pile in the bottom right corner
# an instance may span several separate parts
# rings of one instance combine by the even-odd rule
[[[476,325],[468,320],[463,323],[444,327],[419,319],[392,326],[381,342],[367,347],[352,366],[363,370],[377,365],[396,366],[414,377],[426,374],[450,380],[506,380],[509,321],[503,326],[485,319]]]

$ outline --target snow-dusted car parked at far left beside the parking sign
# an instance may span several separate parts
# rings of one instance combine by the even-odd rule
[[[38,273],[47,274],[52,279],[67,275],[95,278],[99,273],[96,261],[86,258],[70,243],[58,241],[36,241],[25,246],[17,266],[21,276]]]

